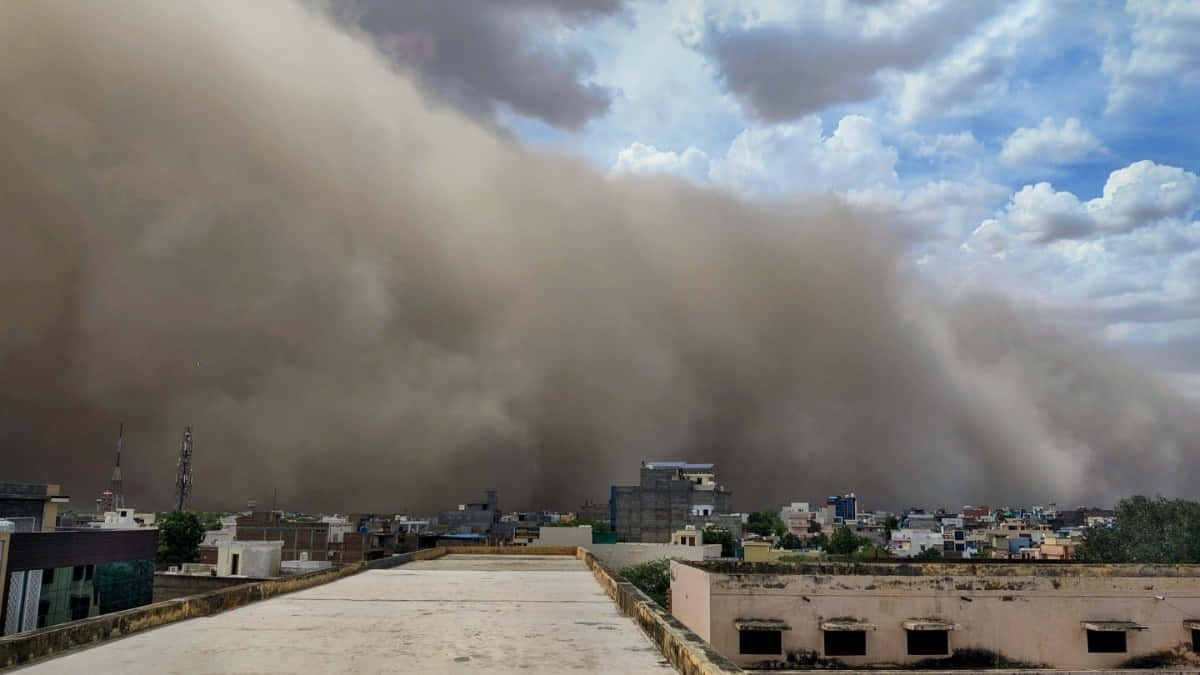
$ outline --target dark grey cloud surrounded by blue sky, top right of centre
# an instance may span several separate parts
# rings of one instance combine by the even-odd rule
[[[905,6],[857,5],[836,18],[815,10],[788,24],[709,20],[700,48],[752,114],[781,121],[874,98],[881,73],[914,70],[944,54],[997,7],[943,2],[910,17]]]

